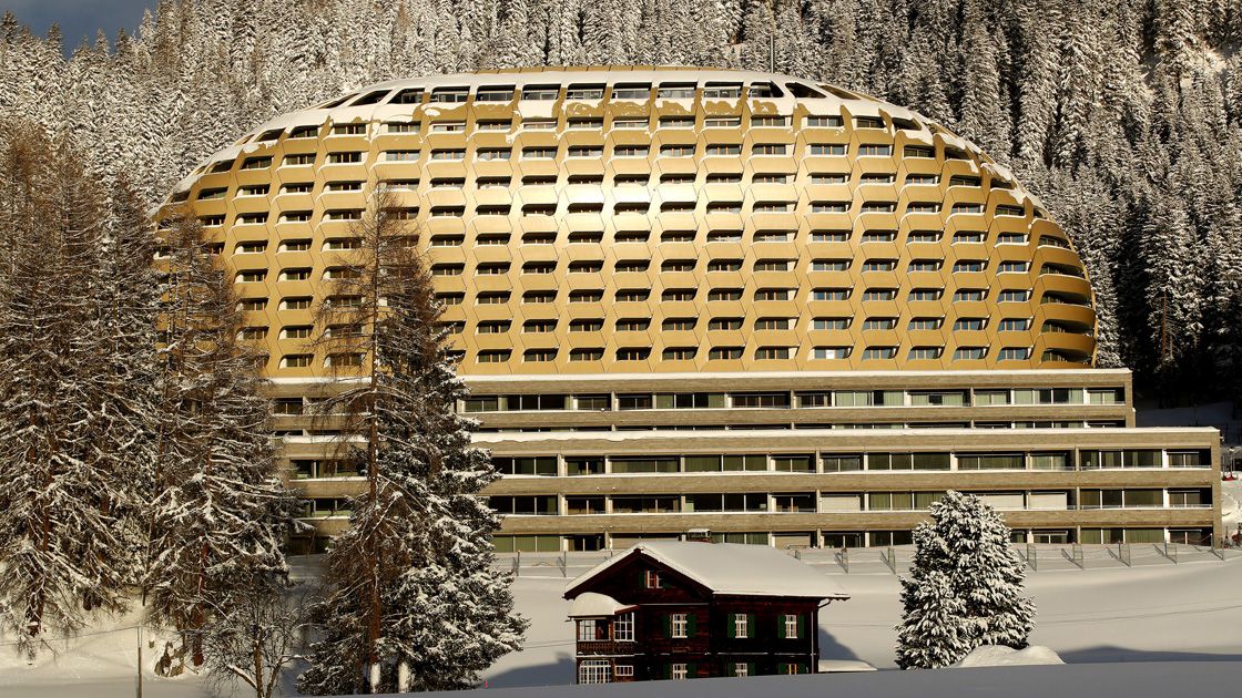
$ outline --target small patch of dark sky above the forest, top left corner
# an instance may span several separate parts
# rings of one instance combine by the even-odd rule
[[[83,39],[94,42],[103,30],[111,41],[118,29],[133,32],[143,21],[143,10],[158,0],[0,0],[0,15],[10,11],[20,24],[45,36],[53,24],[65,34],[65,51],[70,53]]]

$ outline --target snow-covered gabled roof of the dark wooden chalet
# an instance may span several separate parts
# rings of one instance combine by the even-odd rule
[[[828,576],[775,548],[681,540],[640,543],[571,581],[565,597],[573,599],[576,589],[612,565],[640,554],[707,586],[718,596],[850,597]]]

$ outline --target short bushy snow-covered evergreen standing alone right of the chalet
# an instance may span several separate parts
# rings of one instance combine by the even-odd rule
[[[980,645],[1021,650],[1035,628],[1026,566],[1004,518],[972,494],[949,491],[914,530],[914,564],[902,578],[897,664],[936,668]]]

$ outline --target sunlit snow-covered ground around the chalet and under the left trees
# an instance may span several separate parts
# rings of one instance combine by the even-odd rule
[[[1040,610],[1032,643],[1049,647],[1067,663],[1242,661],[1242,556],[1223,563],[1210,555],[1194,561],[1182,556],[1182,563],[1174,565],[1153,548],[1136,550],[1133,568],[1104,566],[1100,559],[1098,566],[1089,563],[1084,571],[1063,559],[1061,563],[1030,574],[1027,589]],[[484,674],[489,687],[573,682],[573,632],[565,620],[569,602],[560,597],[566,580],[554,568],[542,569],[545,576],[524,571],[515,582],[518,610],[532,620],[527,647]],[[838,565],[820,569],[852,596],[821,614],[823,657],[892,668],[893,626],[900,612],[897,576],[883,565],[859,561],[851,564],[851,574],[843,574]],[[132,625],[128,619],[101,625],[91,631],[97,635],[70,646],[58,643],[58,656],[48,653],[32,667],[11,648],[0,647],[0,696],[133,696],[137,637],[133,630],[117,630]],[[153,650],[144,652],[149,658]],[[144,698],[206,694],[196,677],[168,681],[149,673],[143,692]]]

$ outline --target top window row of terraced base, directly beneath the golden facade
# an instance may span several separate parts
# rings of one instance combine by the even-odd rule
[[[294,399],[301,400],[301,399]],[[765,392],[592,392],[482,395],[463,399],[463,412],[548,410],[693,410],[869,407],[869,406],[990,406],[990,405],[1123,405],[1120,388],[1018,388],[936,390],[799,390]],[[301,402],[299,402],[301,404]]]

